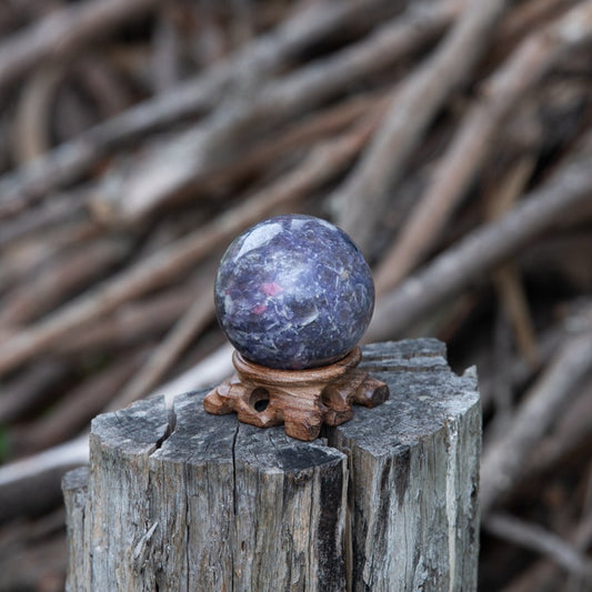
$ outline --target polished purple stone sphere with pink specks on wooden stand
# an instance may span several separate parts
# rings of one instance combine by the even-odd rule
[[[360,250],[311,215],[279,215],[238,237],[215,280],[215,311],[248,360],[297,370],[330,364],[364,333],[374,284]]]

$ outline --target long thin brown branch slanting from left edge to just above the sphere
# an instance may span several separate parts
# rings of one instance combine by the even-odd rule
[[[4,341],[0,344],[0,374],[46,351],[64,335],[107,314],[121,303],[170,281],[265,213],[307,195],[325,183],[351,162],[375,124],[375,121],[363,122],[343,137],[328,141],[314,150],[295,171],[241,205],[228,210],[207,229],[194,231],[107,284],[57,310],[38,325]]]

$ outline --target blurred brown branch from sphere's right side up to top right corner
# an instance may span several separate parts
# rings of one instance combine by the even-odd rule
[[[592,36],[592,2],[534,32],[483,86],[483,99],[465,116],[451,148],[377,271],[377,290],[397,285],[433,245],[470,181],[492,151],[495,134],[515,104],[573,47]],[[400,138],[397,137],[400,142]]]

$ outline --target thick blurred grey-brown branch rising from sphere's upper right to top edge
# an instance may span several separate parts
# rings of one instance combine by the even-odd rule
[[[466,82],[505,4],[504,0],[469,2],[442,47],[395,93],[380,133],[338,190],[338,222],[364,252],[410,153],[450,93]]]

